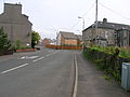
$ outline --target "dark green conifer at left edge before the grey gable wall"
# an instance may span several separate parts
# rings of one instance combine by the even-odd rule
[[[10,50],[11,42],[8,40],[8,33],[4,33],[3,27],[0,28],[0,50]]]

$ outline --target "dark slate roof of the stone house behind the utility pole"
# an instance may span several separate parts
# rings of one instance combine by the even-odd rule
[[[95,23],[92,24],[87,29],[89,29],[89,28],[95,28]],[[114,30],[118,30],[118,29],[128,29],[128,30],[130,30],[130,25],[98,22],[98,28],[114,29]],[[84,29],[83,31],[86,31],[87,29]]]

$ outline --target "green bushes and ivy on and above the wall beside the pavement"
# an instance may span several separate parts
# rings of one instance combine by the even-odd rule
[[[106,72],[106,74],[113,77],[116,81],[121,81],[121,68],[118,63],[117,50],[113,47],[106,47],[105,53],[103,52],[105,47],[88,47],[83,51],[83,56],[95,63],[96,66]],[[106,53],[107,52],[107,53]],[[103,56],[101,56],[103,55]]]

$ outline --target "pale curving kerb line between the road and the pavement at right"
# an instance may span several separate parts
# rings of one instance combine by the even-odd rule
[[[74,84],[74,93],[73,93],[73,97],[76,97],[77,95],[77,87],[78,87],[78,65],[77,65],[77,58],[76,58],[76,54],[75,54],[75,84]]]

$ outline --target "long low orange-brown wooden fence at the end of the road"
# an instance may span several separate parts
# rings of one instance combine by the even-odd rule
[[[48,48],[55,48],[55,50],[82,50],[81,45],[46,45]]]

